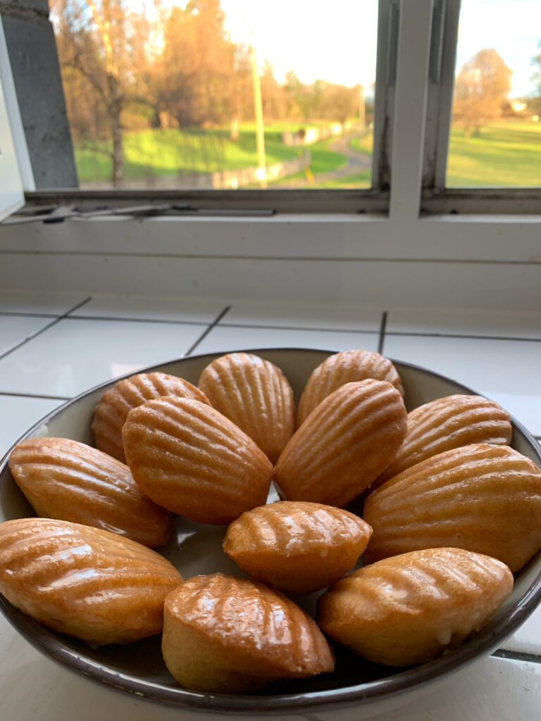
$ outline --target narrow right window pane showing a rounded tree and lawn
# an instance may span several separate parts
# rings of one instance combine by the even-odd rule
[[[462,0],[448,186],[541,185],[541,3]]]

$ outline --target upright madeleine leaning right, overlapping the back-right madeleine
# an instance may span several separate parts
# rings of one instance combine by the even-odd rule
[[[283,449],[274,473],[278,492],[286,500],[346,505],[390,464],[406,417],[402,396],[387,381],[340,386]]]

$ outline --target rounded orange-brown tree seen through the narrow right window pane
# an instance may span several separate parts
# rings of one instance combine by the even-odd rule
[[[511,89],[513,71],[493,48],[479,50],[465,63],[454,85],[453,112],[464,125],[466,137],[478,133],[500,114],[501,103]]]

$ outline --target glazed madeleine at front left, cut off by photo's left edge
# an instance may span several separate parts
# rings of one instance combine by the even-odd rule
[[[0,523],[0,592],[91,645],[159,633],[164,599],[181,581],[157,552],[110,531],[53,518]]]

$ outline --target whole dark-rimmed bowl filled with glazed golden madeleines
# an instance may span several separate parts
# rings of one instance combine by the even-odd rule
[[[49,658],[207,715],[369,717],[541,600],[541,455],[498,403],[367,350],[182,358],[0,467],[0,609]]]

